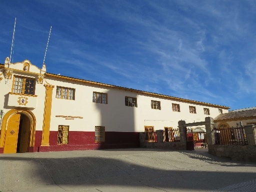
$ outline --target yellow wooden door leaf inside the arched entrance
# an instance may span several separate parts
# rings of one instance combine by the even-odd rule
[[[14,114],[7,123],[3,153],[15,153],[17,148],[20,114]]]

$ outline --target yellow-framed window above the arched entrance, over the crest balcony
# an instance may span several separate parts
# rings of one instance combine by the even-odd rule
[[[34,94],[35,79],[14,76],[12,92],[21,94]]]

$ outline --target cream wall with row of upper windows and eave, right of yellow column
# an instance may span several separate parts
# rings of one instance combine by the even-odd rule
[[[228,107],[150,93],[104,83],[45,73],[54,85],[52,95],[52,127],[59,117],[79,117],[83,129],[93,131],[104,125],[109,131],[143,131],[144,125],[162,129],[177,127],[178,120],[202,121],[227,112]],[[75,126],[75,121],[67,122]],[[55,124],[54,124],[55,123]],[[77,128],[77,126],[76,126]]]

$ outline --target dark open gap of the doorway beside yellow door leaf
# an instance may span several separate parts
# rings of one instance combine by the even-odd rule
[[[20,141],[19,141],[19,151],[18,152],[27,152],[28,149],[28,145],[29,145],[29,127],[30,127],[30,121],[29,119],[23,115],[23,119],[22,119],[22,127],[21,127],[21,131],[19,133],[20,135]]]

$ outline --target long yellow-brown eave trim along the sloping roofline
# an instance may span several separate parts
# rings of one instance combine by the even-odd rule
[[[83,80],[83,79],[78,79],[78,78],[73,78],[73,77],[68,77],[68,76],[62,76],[62,75],[52,74],[52,73],[47,73],[47,72],[44,73],[44,76],[45,77],[48,76],[48,77],[61,78],[61,79],[65,79],[65,80],[72,80],[72,81],[75,81],[75,82],[88,83],[88,84],[92,84],[92,85],[96,85],[96,86],[104,86],[104,87],[108,87],[108,88],[117,88],[117,89],[127,90],[127,91],[131,91],[131,92],[136,92],[136,93],[139,93],[139,94],[154,96],[154,97],[158,97],[158,98],[172,99],[172,100],[176,100],[176,101],[180,101],[180,102],[188,102],[188,103],[193,103],[193,104],[202,104],[202,105],[205,105],[205,106],[211,106],[211,107],[222,108],[222,109],[229,109],[230,108],[230,107],[227,107],[227,106],[221,106],[221,105],[217,105],[217,104],[211,104],[211,103],[195,101],[195,100],[190,100],[190,99],[185,99],[185,98],[179,98],[179,97],[174,97],[174,96],[168,96],[168,95],[163,95],[163,94],[146,92],[146,91],[142,91],[142,90],[136,90],[136,89],[132,89],[132,88],[125,88],[125,87],[122,87],[122,86],[115,86],[115,85],[111,85],[111,84],[105,84],[105,83],[100,83],[100,82],[95,82],[95,81]]]

